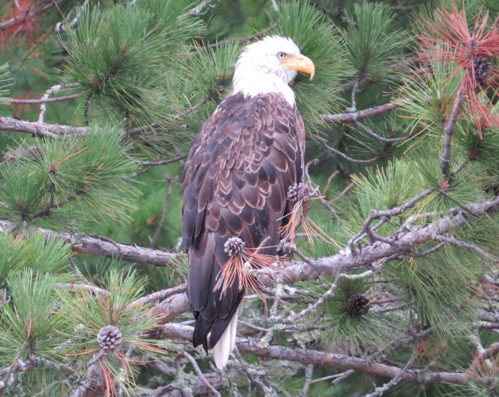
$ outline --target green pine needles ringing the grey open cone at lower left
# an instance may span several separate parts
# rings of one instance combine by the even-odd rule
[[[109,351],[99,360],[103,373],[109,375],[108,390],[115,384],[125,387],[134,382],[140,364],[125,355],[132,349],[134,356],[147,354],[155,356],[161,351],[153,342],[143,339],[144,333],[156,326],[156,317],[149,314],[147,306],[130,304],[144,295],[146,280],[137,279],[134,272],[124,275],[111,270],[104,281],[108,293],[94,294],[91,290],[78,289],[66,294],[65,304],[70,309],[66,322],[72,324],[72,355],[87,362],[101,351],[97,336],[99,331],[109,325],[119,329],[122,335],[120,347]]]

